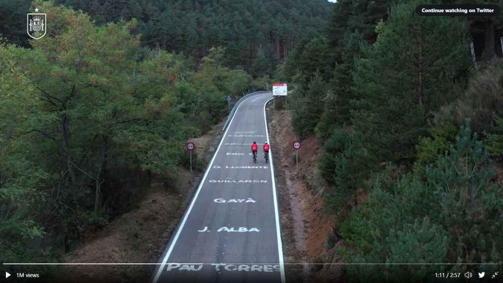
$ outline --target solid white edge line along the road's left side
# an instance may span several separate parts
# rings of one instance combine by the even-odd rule
[[[234,112],[234,115],[230,119],[230,122],[229,122],[229,125],[227,126],[227,129],[225,129],[225,132],[222,135],[222,139],[220,140],[220,144],[218,145],[218,148],[215,151],[215,154],[213,155],[213,158],[211,159],[208,168],[206,168],[206,172],[204,173],[203,179],[199,183],[199,187],[197,188],[196,194],[194,195],[194,198],[192,199],[192,202],[189,206],[189,209],[187,210],[187,213],[185,214],[184,219],[182,220],[182,224],[180,224],[180,227],[178,228],[177,234],[175,235],[175,238],[173,238],[173,242],[171,242],[170,248],[167,250],[166,255],[162,259],[162,264],[159,267],[159,269],[157,270],[157,274],[155,274],[153,283],[157,283],[157,280],[159,280],[160,274],[162,273],[162,270],[164,269],[164,265],[166,265],[167,259],[170,257],[171,252],[173,251],[173,248],[175,247],[175,244],[177,243],[178,237],[180,236],[180,233],[182,232],[182,230],[184,228],[185,222],[187,221],[187,218],[189,218],[190,212],[192,211],[192,207],[194,206],[194,203],[196,202],[197,196],[199,195],[199,192],[201,191],[201,188],[204,185],[204,181],[206,180],[206,176],[208,176],[208,173],[211,170],[211,165],[213,165],[213,161],[215,161],[215,157],[217,156],[218,152],[220,151],[220,147],[222,146],[223,140],[227,136],[227,131],[229,130],[230,125],[232,125],[232,121],[234,120],[234,117],[236,117],[236,114],[237,114],[237,111],[239,110],[239,107],[241,107],[241,105],[243,105],[243,103],[246,100],[248,100],[250,98],[254,98],[254,97],[255,96],[250,96],[250,97],[246,98],[241,103],[239,103],[239,105],[237,106],[236,111]],[[266,126],[267,126],[267,123],[266,123]],[[267,131],[267,128],[266,128],[266,131]]]

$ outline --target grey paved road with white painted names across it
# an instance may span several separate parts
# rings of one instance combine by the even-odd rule
[[[153,283],[284,281],[273,160],[261,154],[271,98],[253,94],[238,106]],[[249,155],[254,141],[257,164]]]

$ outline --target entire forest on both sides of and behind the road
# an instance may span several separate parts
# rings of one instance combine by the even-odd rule
[[[349,265],[346,280],[501,263],[503,15],[416,15],[431,3],[501,5],[0,2],[0,261],[58,261],[141,187],[176,178],[184,143],[227,114],[227,95],[274,79],[292,90],[298,136],[322,140],[343,260],[425,263]],[[40,40],[26,36],[34,7],[51,22]],[[458,264],[427,264],[439,262]]]

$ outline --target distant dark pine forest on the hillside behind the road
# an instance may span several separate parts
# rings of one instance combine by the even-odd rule
[[[300,41],[321,34],[329,17],[325,0],[56,0],[88,13],[96,25],[137,19],[143,46],[200,60],[213,46],[225,48],[223,63],[251,75],[272,75]],[[0,3],[0,33],[28,46],[25,18],[31,0]],[[2,31],[3,29],[3,31]]]

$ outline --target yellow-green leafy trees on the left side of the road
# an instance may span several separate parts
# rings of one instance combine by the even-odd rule
[[[1,5],[16,11],[3,10],[2,20],[33,9],[22,2]],[[47,34],[25,42],[24,23],[19,30],[4,25],[14,33],[5,33],[0,44],[2,262],[57,262],[132,209],[152,180],[173,182],[187,164],[185,143],[220,122],[228,95],[238,98],[270,82],[229,67],[228,49],[218,42],[167,45],[169,35],[144,36],[150,19],[95,20],[54,2],[33,7],[47,14]],[[142,41],[152,38],[166,45]],[[197,49],[195,63],[182,52],[186,45],[208,49]],[[195,167],[202,170],[204,161],[197,159]]]

